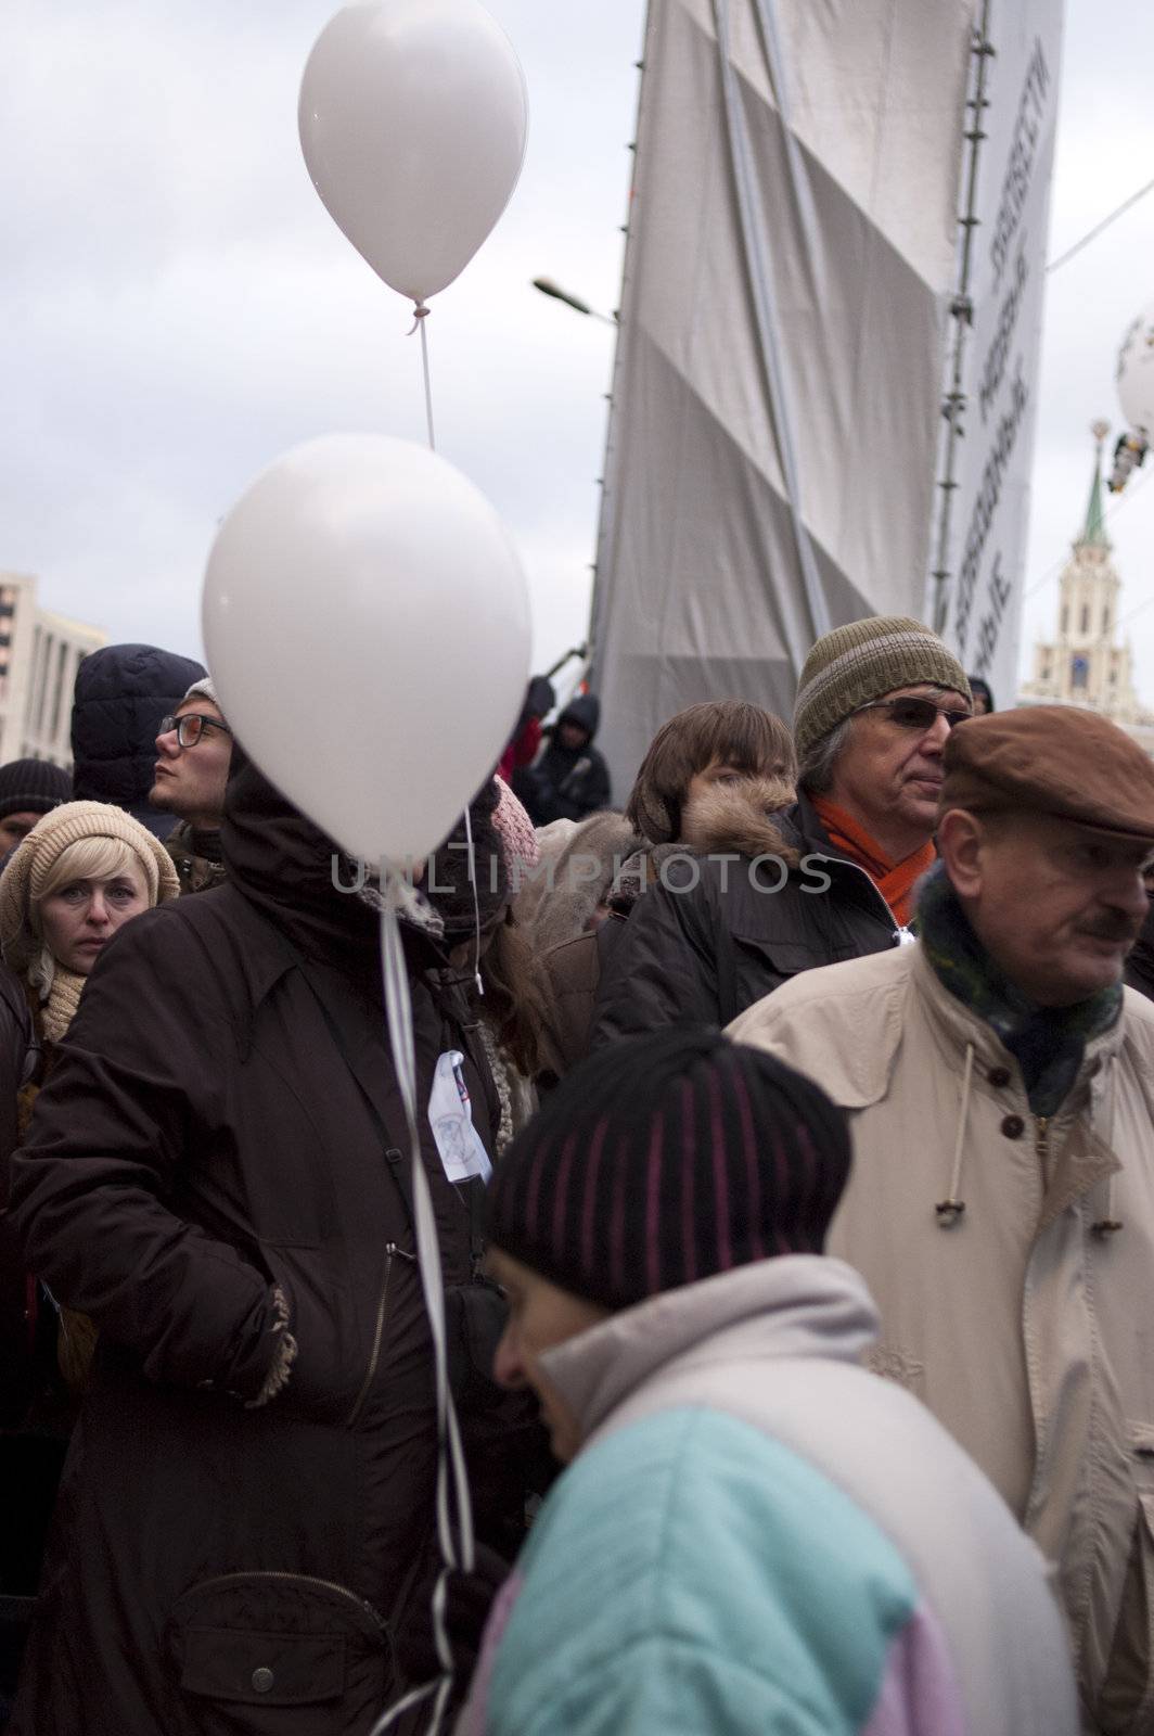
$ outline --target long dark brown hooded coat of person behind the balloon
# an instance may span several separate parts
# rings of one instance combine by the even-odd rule
[[[17,1736],[364,1736],[427,1566],[432,1359],[377,915],[250,767],[224,852],[226,885],[101,955],[12,1160],[30,1266],[101,1328]],[[425,1104],[469,1042],[437,953],[416,932],[406,951]],[[491,1147],[491,1082],[465,1080]],[[463,1283],[470,1201],[420,1130]],[[297,1356],[253,1408],[285,1314]]]

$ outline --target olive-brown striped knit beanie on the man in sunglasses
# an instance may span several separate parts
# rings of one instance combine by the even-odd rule
[[[961,663],[921,621],[871,615],[824,634],[805,658],[793,707],[798,759],[856,712],[897,687],[935,682],[970,698]]]

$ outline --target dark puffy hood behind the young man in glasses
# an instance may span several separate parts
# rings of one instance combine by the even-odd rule
[[[76,670],[73,694],[73,793],[113,802],[167,838],[175,819],[148,804],[156,731],[205,670],[191,656],[156,646],[104,646]]]

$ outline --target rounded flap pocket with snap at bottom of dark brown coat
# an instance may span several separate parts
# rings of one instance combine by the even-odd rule
[[[344,1736],[392,1691],[384,1620],[347,1587],[227,1573],[191,1587],[167,1630],[186,1715],[203,1736]]]

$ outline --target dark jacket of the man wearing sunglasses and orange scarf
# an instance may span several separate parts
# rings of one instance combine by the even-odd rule
[[[661,1024],[725,1026],[800,970],[897,943],[888,904],[833,849],[803,793],[777,830],[779,852],[767,854],[779,863],[710,854],[665,865],[602,977],[592,1049]]]

